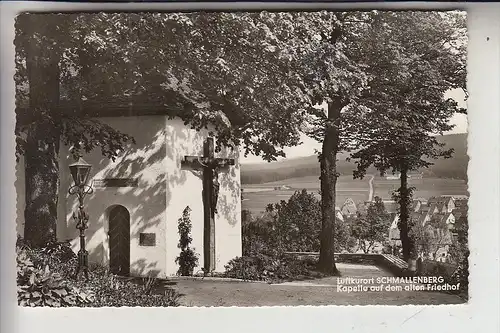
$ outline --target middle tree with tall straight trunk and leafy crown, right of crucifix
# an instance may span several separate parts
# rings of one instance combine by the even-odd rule
[[[334,258],[336,235],[335,196],[337,153],[347,149],[342,133],[354,124],[360,88],[366,83],[360,44],[369,28],[370,14],[361,12],[314,12],[280,14],[276,33],[287,44],[293,59],[291,77],[306,96],[306,121],[302,130],[322,143],[319,153],[321,187],[321,236],[318,268],[337,274]],[[293,33],[293,34],[292,34]],[[324,112],[313,107],[326,103]]]

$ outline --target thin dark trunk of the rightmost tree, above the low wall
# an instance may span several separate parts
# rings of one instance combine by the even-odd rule
[[[401,187],[399,188],[399,232],[401,238],[401,247],[403,249],[403,259],[408,261],[413,251],[413,241],[409,236],[409,205],[411,195],[408,189],[408,169],[401,170]]]

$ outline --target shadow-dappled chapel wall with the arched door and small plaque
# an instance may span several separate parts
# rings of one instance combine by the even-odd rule
[[[130,274],[132,276],[165,276],[165,219],[166,177],[165,131],[162,116],[136,116],[99,118],[116,130],[129,134],[136,140],[115,161],[102,156],[99,148],[83,155],[92,165],[90,182],[108,178],[137,180],[137,187],[99,187],[85,198],[85,210],[90,215],[86,231],[89,261],[109,265],[109,213],[121,205],[130,214]],[[59,214],[59,223],[66,226],[65,235],[71,240],[75,252],[79,249],[78,230],[71,218],[77,209],[75,196],[67,194],[71,185],[69,164],[73,159],[68,148],[61,151],[61,202],[66,202],[64,214]],[[63,209],[63,208],[61,208]],[[154,233],[155,246],[139,243],[141,233]]]

